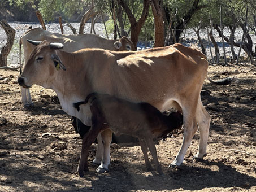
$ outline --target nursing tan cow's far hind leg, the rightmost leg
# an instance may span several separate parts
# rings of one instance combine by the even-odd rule
[[[202,159],[203,156],[206,155],[206,146],[207,146],[207,141],[209,136],[211,117],[208,114],[208,112],[205,110],[205,107],[203,107],[201,99],[199,99],[198,101],[196,120],[197,120],[199,133],[200,133],[200,142],[199,142],[198,152],[195,155],[195,158]]]

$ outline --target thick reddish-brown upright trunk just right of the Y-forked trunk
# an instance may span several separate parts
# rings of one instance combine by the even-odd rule
[[[151,0],[151,8],[155,19],[154,47],[164,46],[164,25],[162,0]]]

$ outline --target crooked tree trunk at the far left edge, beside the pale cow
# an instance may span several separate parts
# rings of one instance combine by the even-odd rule
[[[15,30],[7,23],[6,20],[0,20],[0,25],[5,30],[7,35],[6,45],[2,46],[0,53],[0,66],[7,66],[7,56],[11,51],[12,45],[14,45]]]

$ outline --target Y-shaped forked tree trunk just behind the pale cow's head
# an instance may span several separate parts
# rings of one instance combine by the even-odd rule
[[[141,18],[136,21],[134,15],[132,15],[132,11],[129,9],[127,4],[124,2],[124,0],[117,0],[118,3],[123,7],[124,11],[126,12],[129,21],[131,23],[131,41],[133,42],[133,45],[135,49],[137,48],[137,42],[138,42],[138,36],[140,34],[141,28],[143,27],[147,16],[149,15],[149,0],[144,0],[143,2],[143,10],[141,14]]]

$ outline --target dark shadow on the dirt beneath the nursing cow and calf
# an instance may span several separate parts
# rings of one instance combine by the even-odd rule
[[[214,167],[216,171],[212,171],[210,168],[181,165],[180,168],[176,169],[163,168],[164,176],[158,176],[156,172],[153,172],[152,176],[144,176],[143,174],[132,173],[128,169],[125,169],[126,165],[131,166],[128,165],[128,163],[119,162],[123,171],[117,172],[111,170],[110,166],[110,177],[98,175],[99,179],[93,180],[92,186],[97,190],[97,187],[101,183],[104,183],[105,189],[114,191],[114,186],[116,186],[117,183],[119,186],[123,186],[122,191],[171,191],[181,188],[184,190],[201,190],[211,187],[241,187],[248,189],[256,186],[255,177],[238,172],[230,165],[225,165],[222,162],[208,162],[207,160],[203,160],[201,163]],[[145,170],[145,165],[132,164],[132,166],[134,166],[134,168]]]

